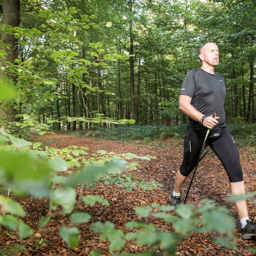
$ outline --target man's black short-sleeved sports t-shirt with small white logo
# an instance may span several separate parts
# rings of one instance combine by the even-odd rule
[[[227,95],[225,77],[220,73],[215,72],[212,75],[201,68],[190,70],[183,81],[180,94],[191,97],[191,105],[205,116],[216,113],[220,117],[217,126],[227,126],[224,110],[224,101]],[[199,122],[188,118],[188,129],[204,129]]]

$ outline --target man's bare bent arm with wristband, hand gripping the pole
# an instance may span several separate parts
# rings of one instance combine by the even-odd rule
[[[199,112],[196,108],[194,108],[191,105],[191,97],[187,95],[180,94],[180,99],[179,99],[179,105],[180,109],[190,118],[196,120],[197,122],[200,123],[202,116],[204,116],[203,113]],[[219,124],[217,119],[220,117],[216,116],[215,118],[208,116],[204,119],[203,121],[203,126],[206,128],[212,129],[215,125]]]

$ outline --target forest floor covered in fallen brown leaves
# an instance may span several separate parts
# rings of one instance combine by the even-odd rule
[[[36,140],[48,141],[48,145],[52,148],[64,148],[70,145],[84,146],[89,148],[89,152],[95,150],[106,150],[108,152],[120,153],[134,153],[138,156],[156,156],[156,159],[137,160],[140,164],[135,171],[125,171],[124,173],[132,173],[133,177],[144,178],[146,180],[155,180],[163,187],[157,187],[152,190],[139,189],[126,192],[124,188],[116,187],[115,185],[106,186],[104,184],[97,184],[98,186],[90,190],[84,188],[84,194],[100,195],[109,201],[110,206],[96,204],[95,206],[86,207],[81,204],[80,211],[87,211],[91,214],[92,220],[97,221],[111,221],[116,228],[121,228],[125,232],[124,225],[131,220],[142,220],[135,213],[135,208],[142,205],[169,204],[169,194],[173,189],[175,172],[177,171],[183,155],[183,141],[175,138],[167,140],[155,140],[147,144],[143,142],[127,142],[114,140],[94,140],[87,137],[78,137],[64,134],[44,134],[37,135]],[[52,142],[52,143],[50,143]],[[239,148],[240,160],[244,171],[244,180],[247,191],[255,192],[255,166],[256,166],[256,152],[250,148]],[[134,159],[133,159],[134,161]],[[72,169],[70,170],[72,171]],[[181,193],[186,195],[186,191],[190,182],[190,177],[186,180]],[[187,204],[198,205],[202,199],[212,199],[216,205],[225,205],[230,210],[231,214],[237,221],[237,228],[234,230],[235,244],[237,250],[225,248],[221,245],[210,242],[211,234],[194,234],[176,245],[177,255],[254,255],[248,251],[246,247],[256,248],[256,240],[243,240],[240,234],[239,220],[234,204],[228,203],[226,197],[230,195],[230,188],[228,177],[223,169],[218,158],[209,151],[200,162],[197,173],[191,187]],[[27,212],[24,219],[26,223],[31,225],[35,230],[28,240],[19,240],[14,232],[6,228],[2,228],[0,236],[0,248],[4,246],[14,246],[14,244],[24,245],[27,252],[22,252],[20,255],[70,255],[67,245],[61,240],[58,232],[61,224],[68,222],[67,216],[60,215],[58,222],[52,220],[45,228],[36,228],[37,222],[41,216],[48,213],[47,207],[42,201],[33,197],[21,198],[18,202]],[[248,202],[249,212],[255,213],[255,203],[252,200]],[[165,223],[163,220],[155,220],[152,222],[157,227],[172,230],[172,224]],[[72,250],[71,255],[90,255],[92,250],[103,250],[102,255],[110,255],[107,246],[108,241],[100,241],[99,234],[93,233],[86,226],[79,227],[81,230],[81,238],[78,247]],[[10,235],[12,234],[12,235]],[[41,240],[41,242],[40,242]],[[43,242],[42,242],[43,241]],[[36,244],[36,245],[35,245]],[[127,242],[122,252],[140,252],[146,246],[136,246],[132,242]],[[156,250],[162,253],[161,249]],[[11,254],[6,254],[11,255]]]

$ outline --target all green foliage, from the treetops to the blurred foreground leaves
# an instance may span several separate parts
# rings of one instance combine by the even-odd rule
[[[145,1],[130,1],[133,5],[118,1],[114,1],[113,5],[106,1],[77,1],[77,7],[70,7],[69,1],[48,1],[44,5],[36,1],[27,2],[21,5],[20,27],[12,28],[2,23],[0,26],[1,31],[15,36],[19,48],[19,57],[13,62],[6,61],[7,53],[0,51],[0,125],[6,128],[1,128],[0,133],[0,157],[4,159],[0,162],[0,185],[13,193],[12,198],[0,196],[0,225],[16,231],[20,238],[31,236],[34,230],[23,220],[26,212],[15,202],[15,197],[31,195],[44,198],[50,211],[49,215],[38,220],[40,228],[46,228],[58,214],[68,216],[69,222],[60,227],[59,234],[71,249],[79,243],[79,225],[88,227],[91,220],[90,214],[76,209],[77,202],[88,205],[97,202],[108,206],[104,198],[95,195],[82,197],[81,193],[77,193],[78,189],[93,187],[95,182],[102,180],[107,185],[114,183],[122,186],[126,191],[138,187],[151,189],[161,184],[117,175],[124,168],[136,168],[136,164],[127,160],[150,160],[152,157],[113,154],[103,150],[88,154],[87,148],[75,145],[50,148],[47,144],[22,140],[14,136],[15,133],[19,137],[29,136],[32,131],[44,134],[51,132],[50,128],[66,129],[71,124],[73,130],[76,130],[77,124],[82,129],[99,127],[102,123],[106,126],[132,124],[135,121],[130,119],[130,102],[135,100],[137,123],[184,123],[184,116],[177,108],[179,88],[188,69],[198,66],[195,49],[204,40],[220,43],[225,61],[219,69],[227,75],[228,99],[234,97],[239,100],[238,108],[242,113],[240,99],[244,96],[243,103],[248,103],[247,112],[254,122],[254,109],[251,111],[249,104],[253,96],[250,91],[253,79],[249,79],[249,72],[252,73],[250,67],[253,67],[251,64],[255,60],[255,31],[251,30],[255,8],[250,8],[248,1],[244,6],[239,2],[238,9],[237,1],[229,0],[223,0],[221,4],[212,4],[211,1],[207,4],[201,1],[148,1],[147,4]],[[229,5],[232,7],[230,10],[227,8]],[[251,27],[241,18],[241,10],[249,17]],[[113,23],[102,21],[109,18]],[[225,24],[225,28],[219,24]],[[199,40],[198,35],[202,36]],[[232,47],[237,41],[242,43],[241,46]],[[16,47],[2,41],[0,45],[7,52]],[[135,54],[130,55],[131,47],[134,47],[132,52]],[[235,66],[236,60],[239,60],[241,68]],[[132,79],[134,82],[131,72],[127,74],[129,64],[134,65],[130,70],[135,71],[138,78],[137,94],[132,97],[131,91],[127,90],[127,84]],[[233,74],[237,74],[238,78]],[[99,81],[103,84],[102,88]],[[122,95],[116,97],[116,84],[119,82]],[[100,98],[102,93],[104,100]],[[119,102],[122,104],[118,105]],[[104,105],[103,111],[100,110],[100,103]],[[119,116],[122,116],[119,121],[116,121],[117,105]],[[8,111],[12,108],[9,116]],[[228,116],[232,116],[233,105],[227,105],[226,109]],[[241,116],[245,118],[244,113]],[[10,122],[9,117],[13,117],[14,121]],[[238,118],[237,113],[235,117]],[[254,126],[249,128],[242,123],[242,129],[237,127],[231,127],[234,134],[239,135],[243,131],[247,134],[247,145],[255,145],[255,136],[252,135]],[[184,126],[132,125],[93,131],[95,137],[102,133],[111,139],[147,142],[151,138],[183,135]],[[73,167],[76,172],[67,172]],[[175,243],[189,236],[189,232],[208,231],[223,235],[215,242],[235,249],[232,243],[234,221],[225,208],[216,208],[212,202],[202,202],[201,207],[193,208],[193,205],[180,205],[176,209],[179,217],[169,212],[174,210],[171,206],[154,204],[136,209],[141,217],[148,218],[152,214],[172,223],[175,233],[146,222],[128,223],[127,234],[110,222],[94,222],[90,228],[101,233],[101,240],[109,241],[110,252],[122,249],[126,240],[135,239],[138,244],[148,244],[150,249],[146,255],[155,255],[151,251],[155,247],[174,254]],[[38,241],[34,247],[40,247],[41,242]],[[13,247],[6,246],[3,253],[19,254],[22,251],[26,248],[15,244]],[[92,255],[99,253],[92,252]]]

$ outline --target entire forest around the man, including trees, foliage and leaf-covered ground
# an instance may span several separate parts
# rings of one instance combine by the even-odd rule
[[[0,255],[256,253],[233,204],[246,198],[255,217],[255,195],[231,197],[212,153],[188,204],[176,214],[168,202],[188,122],[180,87],[207,42],[255,192],[254,1],[0,0],[0,11]]]

